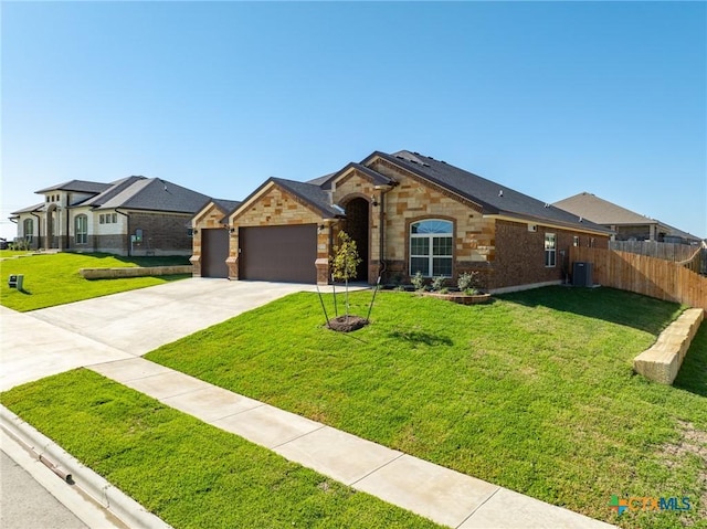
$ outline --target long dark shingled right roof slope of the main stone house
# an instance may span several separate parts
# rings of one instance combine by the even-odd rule
[[[377,151],[363,160],[362,163],[368,163],[376,157],[398,165],[432,183],[436,183],[478,204],[484,214],[507,215],[537,222],[546,221],[561,225],[577,226],[582,230],[609,233],[609,230],[587,219],[580,220],[577,214],[534,199],[507,186],[465,171],[444,161],[420,155],[419,152],[401,150],[393,155],[387,155]]]

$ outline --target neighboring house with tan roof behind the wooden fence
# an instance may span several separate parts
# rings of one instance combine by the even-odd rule
[[[700,239],[664,222],[635,213],[592,193],[582,192],[552,205],[581,215],[616,232],[615,241],[657,241],[699,244]]]

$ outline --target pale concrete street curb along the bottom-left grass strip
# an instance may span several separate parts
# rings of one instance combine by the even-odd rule
[[[61,446],[3,405],[0,405],[0,427],[30,448],[38,459],[43,456],[56,467],[71,474],[75,487],[81,488],[128,527],[135,529],[172,529],[170,525],[147,511],[140,504],[91,468],[81,464]],[[61,478],[57,476],[57,479]]]

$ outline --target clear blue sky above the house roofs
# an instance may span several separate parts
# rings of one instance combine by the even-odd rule
[[[71,179],[238,200],[400,149],[707,236],[705,2],[1,9],[1,236]]]

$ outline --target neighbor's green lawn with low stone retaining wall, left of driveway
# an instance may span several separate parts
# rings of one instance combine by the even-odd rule
[[[84,279],[80,268],[116,268],[189,264],[187,257],[118,257],[109,254],[30,254],[0,261],[0,304],[19,311],[53,307],[65,303],[133,290],[188,275]],[[22,292],[8,286],[11,274],[24,274]]]

